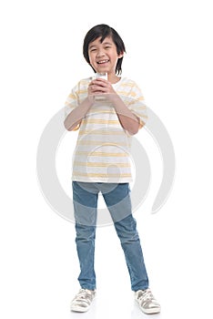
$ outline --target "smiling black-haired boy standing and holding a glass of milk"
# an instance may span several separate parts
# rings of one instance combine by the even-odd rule
[[[96,74],[81,80],[66,100],[65,127],[79,129],[73,163],[76,250],[81,289],[71,310],[86,312],[96,295],[94,253],[97,195],[101,192],[125,253],[131,288],[141,310],[157,314],[160,305],[148,287],[147,270],[132,216],[129,182],[131,136],[146,122],[146,106],[137,84],[119,77],[125,45],[117,31],[98,25],[85,37],[83,53]]]

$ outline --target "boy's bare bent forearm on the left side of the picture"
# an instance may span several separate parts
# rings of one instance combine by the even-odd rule
[[[67,115],[64,121],[65,128],[67,130],[76,129],[76,127],[81,123],[82,118],[85,118],[86,113],[92,105],[93,99],[87,97],[77,108]]]

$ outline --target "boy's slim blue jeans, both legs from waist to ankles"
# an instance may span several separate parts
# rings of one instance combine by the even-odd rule
[[[76,219],[76,250],[80,263],[78,281],[85,289],[96,289],[94,269],[97,198],[102,192],[114,221],[117,236],[125,253],[133,291],[148,288],[147,270],[132,216],[128,183],[73,181],[73,201]]]

